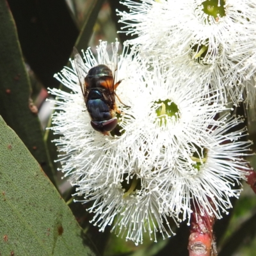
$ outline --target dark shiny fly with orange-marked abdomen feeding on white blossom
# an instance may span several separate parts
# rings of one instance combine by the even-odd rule
[[[74,62],[84,102],[91,117],[91,125],[96,131],[109,135],[109,131],[117,125],[116,113],[121,113],[116,106],[116,88],[121,81],[115,81],[117,71],[117,53],[115,74],[104,64],[97,65],[88,71],[84,77],[84,63],[81,55],[74,47]],[[119,99],[119,98],[118,98]]]

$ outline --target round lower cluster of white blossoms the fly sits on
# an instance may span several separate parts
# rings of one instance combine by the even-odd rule
[[[113,46],[114,55],[116,49],[118,42]],[[218,217],[220,209],[230,207],[229,196],[238,193],[230,184],[244,178],[244,172],[238,171],[239,159],[236,164],[227,160],[218,163],[220,170],[212,169],[214,160],[210,159],[224,154],[233,159],[234,152],[246,150],[248,143],[221,144],[221,129],[227,128],[224,118],[214,119],[225,109],[216,102],[218,92],[198,89],[193,79],[172,76],[157,59],[147,65],[140,56],[125,52],[118,61],[116,81],[121,83],[116,88],[120,109],[116,129],[107,136],[90,125],[74,61],[71,68],[56,74],[71,92],[49,89],[56,96],[51,129],[61,136],[55,140],[61,172],[77,187],[76,195],[84,196],[84,203],[93,201],[88,209],[95,214],[92,222],[101,231],[113,224],[116,234],[138,244],[145,232],[155,241],[157,232],[163,237],[172,235],[168,218],[176,223],[189,218],[191,199],[202,205],[202,211],[212,213],[214,209]],[[90,50],[84,52],[84,64],[79,67],[84,77],[102,63],[115,73],[116,59],[108,56],[106,42],[100,42],[97,54],[96,59]],[[230,122],[228,127],[235,124]],[[227,138],[236,140],[238,134]],[[196,155],[198,147],[207,148],[207,161]],[[220,153],[219,148],[223,150]],[[233,169],[228,172],[229,167]],[[221,186],[220,192],[210,193],[211,182],[216,188]],[[208,196],[216,208],[209,206]]]

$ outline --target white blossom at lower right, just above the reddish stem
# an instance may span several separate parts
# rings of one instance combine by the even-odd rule
[[[253,143],[243,141],[246,128],[236,128],[243,121],[241,116],[222,116],[219,122],[223,125],[209,129],[207,145],[188,142],[191,151],[174,159],[177,163],[173,168],[163,168],[161,175],[166,180],[161,186],[169,196],[166,208],[180,209],[180,220],[188,219],[189,223],[191,209],[220,219],[232,208],[230,197],[239,197],[243,190],[241,180],[246,180],[246,171],[250,170],[244,157],[250,155]],[[189,154],[192,163],[184,161],[185,154]]]

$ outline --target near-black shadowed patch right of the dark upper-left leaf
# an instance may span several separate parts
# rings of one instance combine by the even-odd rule
[[[22,52],[45,88],[58,87],[53,75],[67,64],[79,35],[63,0],[8,0]]]

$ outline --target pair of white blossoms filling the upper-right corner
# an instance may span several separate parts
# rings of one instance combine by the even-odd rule
[[[255,3],[249,0],[125,0],[130,12],[118,12],[129,42],[152,55],[177,76],[204,80],[229,95],[234,104],[250,79],[244,63],[255,53]]]

